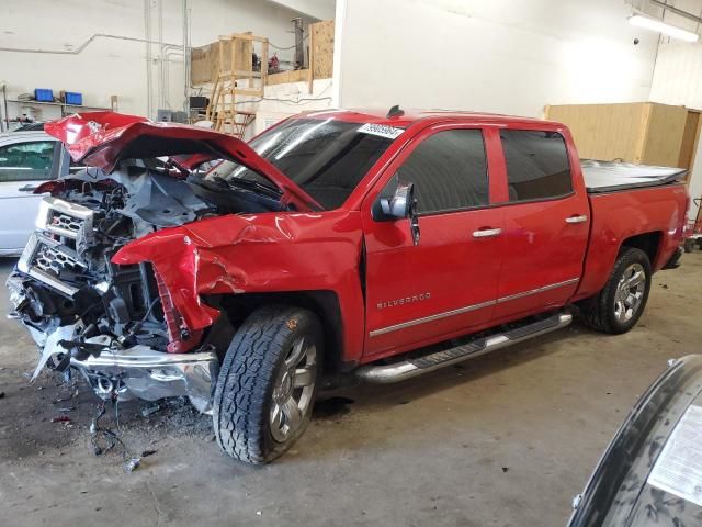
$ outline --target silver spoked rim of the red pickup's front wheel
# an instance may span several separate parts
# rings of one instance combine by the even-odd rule
[[[312,404],[317,379],[317,349],[302,336],[291,347],[273,385],[271,435],[284,442],[295,435]]]

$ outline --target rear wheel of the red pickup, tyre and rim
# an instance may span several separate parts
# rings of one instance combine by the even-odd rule
[[[629,332],[646,307],[650,279],[650,261],[646,253],[624,247],[602,291],[579,304],[582,322],[611,335]]]

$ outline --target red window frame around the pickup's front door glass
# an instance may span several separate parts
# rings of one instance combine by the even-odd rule
[[[419,147],[419,145],[421,145],[424,141],[429,139],[430,137],[433,137],[434,135],[441,134],[443,132],[455,132],[461,130],[477,131],[480,134],[480,137],[483,138],[483,153],[485,155],[485,179],[487,183],[487,203],[483,205],[471,205],[471,206],[456,208],[456,209],[445,209],[441,211],[419,212],[417,216],[418,217],[441,216],[444,214],[455,214],[460,212],[478,211],[478,210],[489,209],[491,206],[495,206],[496,204],[492,203],[491,201],[492,189],[491,189],[491,178],[490,178],[490,155],[489,155],[490,146],[488,144],[489,142],[488,134],[486,133],[485,126],[482,124],[463,124],[463,123],[450,123],[450,124],[440,124],[437,126],[431,126],[428,130],[421,131],[416,136],[414,136],[408,142],[408,144],[405,145],[403,150],[398,153],[397,157],[395,157],[394,161],[396,162],[394,162],[393,164],[394,166],[390,166],[389,170],[387,171],[390,175],[389,178],[387,178],[385,182],[381,182],[382,180],[378,181],[380,191],[377,195],[374,198],[373,203],[377,202],[381,199],[381,197],[383,197],[383,191],[387,188],[387,186],[393,184],[393,181],[395,181],[398,176],[400,181],[414,183],[414,181],[403,180],[401,176],[399,175],[399,171],[403,168],[403,166],[407,162],[407,160],[411,157],[411,155],[415,153],[415,150]]]

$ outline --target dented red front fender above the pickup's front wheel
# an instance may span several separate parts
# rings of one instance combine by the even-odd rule
[[[202,294],[333,291],[344,321],[344,360],[356,360],[364,333],[361,246],[358,211],[230,214],[149,234],[112,261],[150,262],[192,332],[219,316]]]

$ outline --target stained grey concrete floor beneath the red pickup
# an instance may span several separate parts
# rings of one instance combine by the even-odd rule
[[[12,264],[0,264],[2,282]],[[34,347],[4,321],[1,288],[0,524],[563,526],[636,397],[667,359],[700,351],[701,292],[698,251],[655,276],[627,335],[574,325],[403,384],[328,394],[294,450],[263,468],[222,455],[206,417],[145,418],[144,404],[126,404],[128,448],[156,450],[126,474],[120,455],[90,449],[86,386],[27,383]],[[60,415],[71,422],[52,422]]]

